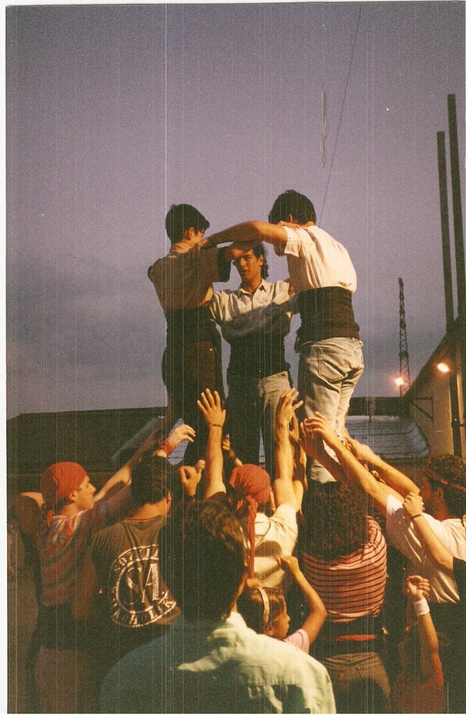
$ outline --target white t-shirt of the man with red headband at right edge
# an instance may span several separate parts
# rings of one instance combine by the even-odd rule
[[[442,541],[452,556],[466,560],[466,530],[461,519],[439,521],[430,514],[423,515],[435,536]],[[430,581],[432,603],[457,603],[460,600],[455,579],[436,566],[415,533],[415,526],[407,516],[401,501],[392,494],[387,499],[387,537],[393,546],[412,563],[412,573]]]

